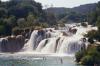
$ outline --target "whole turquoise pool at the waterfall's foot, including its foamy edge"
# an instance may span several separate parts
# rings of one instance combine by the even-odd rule
[[[1,54],[0,66],[79,66],[74,57],[32,54]]]

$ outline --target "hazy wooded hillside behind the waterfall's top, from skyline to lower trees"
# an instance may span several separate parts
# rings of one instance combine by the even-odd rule
[[[54,14],[58,22],[82,22],[87,20],[87,14],[96,10],[96,3],[80,5],[74,8],[52,7],[45,9]]]

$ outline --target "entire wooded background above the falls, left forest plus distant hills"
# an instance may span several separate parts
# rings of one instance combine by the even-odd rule
[[[11,35],[18,30],[57,26],[58,23],[84,22],[87,21],[86,12],[94,11],[95,5],[94,3],[81,5],[72,9],[48,8],[43,10],[41,3],[34,0],[0,1],[0,36]],[[87,7],[83,9],[84,14],[83,12],[80,13],[82,7]],[[96,16],[95,13],[92,14]],[[93,23],[95,18],[91,20],[94,17],[91,15],[88,14],[88,21]]]

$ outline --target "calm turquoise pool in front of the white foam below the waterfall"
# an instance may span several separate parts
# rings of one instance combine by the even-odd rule
[[[72,58],[0,59],[0,66],[78,66]]]

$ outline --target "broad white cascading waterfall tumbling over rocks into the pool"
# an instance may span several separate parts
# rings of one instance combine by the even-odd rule
[[[92,27],[75,26],[75,24],[70,26],[68,24],[65,28],[59,30],[53,28],[34,30],[29,41],[24,44],[20,52],[74,54],[82,48],[86,48],[87,41],[82,39],[84,38],[83,34],[93,29]],[[2,41],[0,39],[0,47]]]

